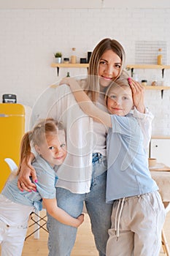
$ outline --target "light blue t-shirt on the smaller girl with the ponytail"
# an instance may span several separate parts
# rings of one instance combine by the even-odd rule
[[[18,176],[14,176],[12,173],[4,189],[2,189],[1,194],[12,202],[20,203],[25,206],[34,206],[37,210],[41,211],[42,197],[49,199],[56,197],[55,183],[58,177],[54,169],[57,167],[53,169],[45,159],[39,156],[36,157],[32,165],[36,170],[38,180],[38,183],[36,183],[36,192],[21,192],[18,189]]]

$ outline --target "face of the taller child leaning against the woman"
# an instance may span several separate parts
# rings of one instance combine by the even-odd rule
[[[107,97],[107,109],[109,113],[117,116],[125,116],[133,108],[130,86],[112,86]]]

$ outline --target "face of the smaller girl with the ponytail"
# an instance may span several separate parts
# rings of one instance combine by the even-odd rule
[[[63,130],[58,130],[58,135],[47,135],[46,140],[35,146],[36,151],[54,167],[61,165],[66,158],[66,135]]]

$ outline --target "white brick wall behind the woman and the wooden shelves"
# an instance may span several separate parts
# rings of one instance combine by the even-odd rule
[[[78,57],[86,57],[88,50],[104,37],[120,41],[128,64],[134,63],[136,40],[166,41],[170,64],[169,24],[170,9],[163,7],[1,9],[0,94],[17,94],[18,102],[32,107],[42,91],[58,80],[55,69],[50,67],[53,52],[60,50],[67,57],[75,47]],[[71,75],[86,72],[62,69],[61,77],[67,71]],[[148,71],[144,72],[146,75]],[[154,72],[160,75],[160,71]],[[169,71],[166,80],[169,83]],[[153,134],[170,135],[170,91],[164,91],[163,99],[161,91],[146,91],[146,105],[155,114]]]

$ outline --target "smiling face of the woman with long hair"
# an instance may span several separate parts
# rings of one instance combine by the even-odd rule
[[[106,50],[101,56],[98,66],[98,75],[100,77],[100,85],[107,87],[120,75],[122,61],[120,57],[112,50]]]

